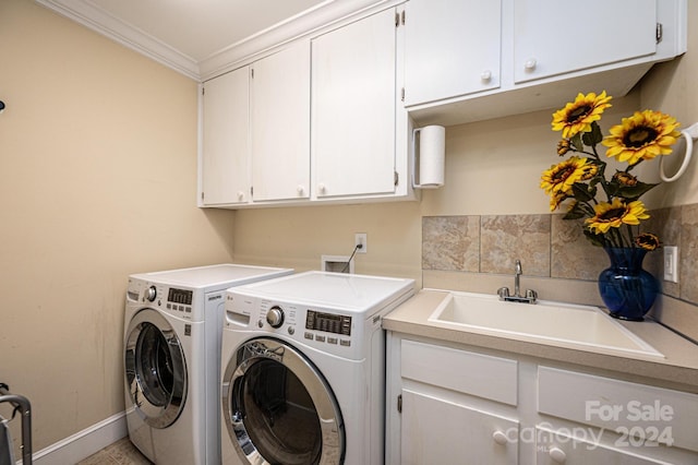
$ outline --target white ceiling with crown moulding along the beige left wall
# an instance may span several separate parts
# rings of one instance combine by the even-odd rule
[[[288,19],[346,0],[36,0],[192,78],[198,63]]]

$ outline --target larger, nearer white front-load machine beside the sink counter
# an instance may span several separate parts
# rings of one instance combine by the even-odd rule
[[[413,293],[412,279],[323,272],[229,289],[222,463],[382,464],[381,320]]]

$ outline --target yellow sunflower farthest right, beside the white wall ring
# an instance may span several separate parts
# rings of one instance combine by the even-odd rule
[[[635,165],[642,159],[672,153],[681,132],[676,119],[660,111],[636,111],[623,118],[622,123],[609,131],[602,144],[609,147],[606,156]]]

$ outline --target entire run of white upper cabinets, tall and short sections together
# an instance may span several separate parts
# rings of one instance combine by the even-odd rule
[[[412,126],[621,97],[686,50],[687,0],[361,4],[261,34],[204,83],[200,205],[414,200]]]

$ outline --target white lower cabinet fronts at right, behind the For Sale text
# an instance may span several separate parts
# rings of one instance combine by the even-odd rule
[[[697,464],[698,395],[538,367],[538,464]]]

